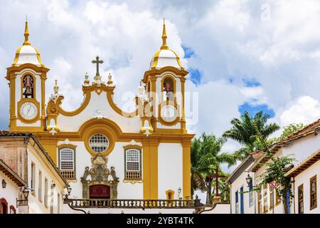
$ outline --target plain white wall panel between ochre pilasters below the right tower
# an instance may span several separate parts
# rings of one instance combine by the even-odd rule
[[[158,196],[166,199],[166,190],[174,190],[178,199],[178,188],[183,189],[182,146],[178,143],[160,143],[158,148]],[[180,197],[183,192],[181,191]]]

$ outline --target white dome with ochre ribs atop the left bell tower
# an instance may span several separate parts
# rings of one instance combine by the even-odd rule
[[[40,53],[37,48],[30,45],[24,45],[18,48],[16,51],[16,58],[14,59],[14,65],[19,66],[24,63],[43,66],[43,63],[41,63]]]

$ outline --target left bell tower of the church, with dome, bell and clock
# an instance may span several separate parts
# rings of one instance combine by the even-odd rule
[[[41,62],[38,49],[31,46],[26,21],[23,45],[17,49],[14,63],[6,73],[10,93],[9,130],[45,130],[45,83],[48,71]]]

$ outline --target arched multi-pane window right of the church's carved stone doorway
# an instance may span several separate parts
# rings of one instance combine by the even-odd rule
[[[125,180],[141,180],[141,150],[129,148],[124,150],[125,155]]]

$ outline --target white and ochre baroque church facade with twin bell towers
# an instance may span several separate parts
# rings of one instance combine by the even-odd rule
[[[112,76],[85,75],[81,105],[61,108],[57,81],[46,98],[49,69],[37,48],[25,41],[7,68],[9,131],[33,133],[68,180],[76,199],[191,199],[191,140],[184,109],[188,72],[178,55],[162,46],[144,72],[135,98],[137,109],[114,103]],[[139,82],[137,82],[139,84]],[[63,86],[63,85],[61,85]],[[68,95],[68,94],[65,94]]]

